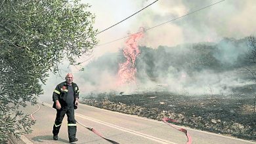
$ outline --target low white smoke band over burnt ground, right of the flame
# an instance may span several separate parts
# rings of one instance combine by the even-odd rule
[[[165,89],[169,92],[184,95],[213,95],[213,94],[233,94],[233,88],[253,84],[252,81],[242,79],[235,71],[225,71],[215,73],[215,71],[203,70],[188,75],[185,72],[169,73],[167,77],[160,79],[165,84]],[[174,77],[177,75],[177,77]]]

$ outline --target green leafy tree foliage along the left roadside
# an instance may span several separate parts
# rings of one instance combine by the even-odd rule
[[[77,64],[98,43],[88,7],[77,0],[0,2],[0,141],[31,132],[34,122],[19,107],[36,103],[49,70],[56,73],[64,58]]]

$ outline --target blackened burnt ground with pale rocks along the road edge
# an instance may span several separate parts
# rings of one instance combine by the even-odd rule
[[[183,96],[169,92],[118,95],[102,93],[81,101],[103,109],[256,141],[255,96]]]

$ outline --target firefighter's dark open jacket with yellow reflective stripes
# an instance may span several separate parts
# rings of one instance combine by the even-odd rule
[[[74,108],[75,106],[75,98],[79,98],[79,88],[77,84],[72,82],[73,90],[74,90]],[[53,92],[53,108],[56,109],[56,100],[60,102],[62,108],[67,107],[66,99],[68,96],[68,84],[65,82],[61,82],[58,84]]]

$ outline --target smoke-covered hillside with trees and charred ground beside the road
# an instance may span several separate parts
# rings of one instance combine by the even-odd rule
[[[246,70],[255,65],[248,63],[247,50],[247,39],[228,38],[141,46],[137,83],[123,88],[115,85],[115,77],[125,59],[108,54],[87,65],[85,79],[92,89],[82,103],[156,120],[169,117],[182,126],[255,141],[256,86]]]

